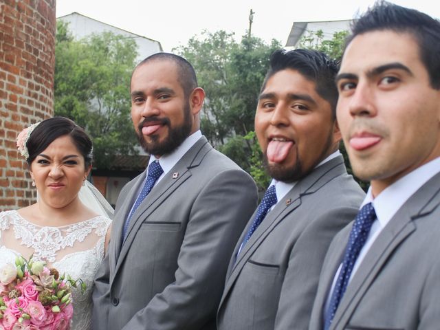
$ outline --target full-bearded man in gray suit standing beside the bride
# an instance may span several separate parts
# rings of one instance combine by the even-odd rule
[[[180,56],[154,54],[133,72],[131,116],[151,159],[116,203],[94,329],[215,329],[230,255],[257,194],[201,135],[203,98]]]

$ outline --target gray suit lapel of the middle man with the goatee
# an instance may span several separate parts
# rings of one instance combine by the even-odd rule
[[[267,214],[267,217],[265,217],[259,227],[256,228],[248,243],[246,243],[241,250],[234,265],[230,267],[230,276],[226,281],[225,291],[223,293],[221,303],[225,299],[225,296],[227,296],[230,288],[234,284],[234,281],[236,280],[237,276],[239,276],[250,256],[252,256],[259,245],[263,243],[267,235],[269,235],[270,232],[276,228],[276,225],[278,225],[278,223],[283,221],[287,215],[301,205],[301,197],[313,194],[322,186],[327,184],[327,182],[329,182],[331,179],[338,177],[343,173],[347,173],[344,166],[344,160],[342,159],[342,156],[338,156],[334,159],[331,159],[329,162],[322,164],[322,166],[316,168],[312,173],[307,175],[307,177],[298,181],[294,188],[292,188],[292,190],[290,190],[287,195],[283,197],[283,200],[278,201],[275,208]],[[250,222],[254,220],[254,216],[255,212],[252,214],[252,218],[250,219],[248,225],[246,225],[245,231],[248,230]],[[242,234],[240,238],[241,241],[243,240],[243,236],[244,235]],[[239,241],[239,244],[241,244],[241,241]],[[234,256],[238,251],[239,244],[237,244],[236,251],[234,251]]]

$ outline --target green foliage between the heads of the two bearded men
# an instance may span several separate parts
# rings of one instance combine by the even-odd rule
[[[270,54],[279,48],[276,40],[267,45],[254,36],[243,36],[237,43],[234,34],[204,31],[173,50],[194,65],[199,85],[206,91],[201,131],[219,151],[251,173],[261,188],[266,188],[269,178],[252,135],[254,115]]]

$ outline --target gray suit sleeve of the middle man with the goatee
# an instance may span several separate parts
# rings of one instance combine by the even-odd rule
[[[357,208],[333,208],[313,219],[289,256],[275,329],[308,329],[327,249],[336,233],[355,218]],[[292,300],[292,297],[295,297]]]

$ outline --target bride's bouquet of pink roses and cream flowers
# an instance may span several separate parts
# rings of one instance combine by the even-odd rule
[[[40,261],[17,257],[0,269],[0,330],[69,329],[74,307],[72,287],[85,283],[60,276]]]

